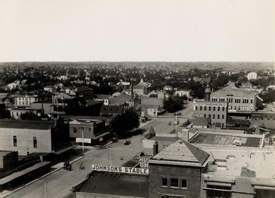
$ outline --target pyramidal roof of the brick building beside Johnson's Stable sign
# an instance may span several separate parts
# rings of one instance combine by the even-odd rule
[[[210,155],[206,151],[185,142],[177,140],[164,148],[148,162],[149,164],[171,164],[179,166],[206,166],[206,160]]]

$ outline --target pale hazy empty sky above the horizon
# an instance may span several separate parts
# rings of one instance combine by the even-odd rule
[[[274,0],[1,0],[0,62],[275,61]]]

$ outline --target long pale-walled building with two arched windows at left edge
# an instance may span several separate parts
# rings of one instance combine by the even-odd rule
[[[0,150],[29,153],[54,153],[69,140],[63,120],[0,120]]]

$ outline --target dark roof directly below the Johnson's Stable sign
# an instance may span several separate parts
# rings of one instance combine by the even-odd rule
[[[117,195],[124,197],[149,197],[148,176],[93,171],[77,192]]]

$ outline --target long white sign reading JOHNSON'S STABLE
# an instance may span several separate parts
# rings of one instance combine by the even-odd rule
[[[148,168],[131,168],[131,167],[123,167],[123,166],[104,166],[104,165],[91,165],[91,170],[98,171],[107,171],[107,172],[115,172],[115,173],[130,173],[130,174],[141,174],[148,175]]]

